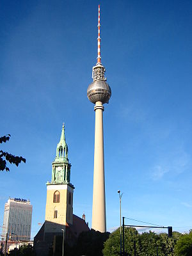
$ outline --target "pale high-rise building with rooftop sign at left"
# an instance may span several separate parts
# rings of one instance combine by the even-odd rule
[[[29,200],[9,198],[4,205],[3,232],[1,238],[10,240],[29,241],[31,238],[32,209]]]

